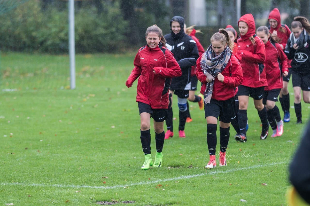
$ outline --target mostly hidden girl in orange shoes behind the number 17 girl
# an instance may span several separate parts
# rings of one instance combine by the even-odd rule
[[[200,30],[194,29],[194,26],[186,27],[186,24],[184,24],[184,31],[187,35],[192,37],[192,39],[196,42],[199,56],[205,52],[205,49],[200,44],[199,39],[195,36],[196,32],[202,33]],[[191,102],[198,102],[199,109],[203,109],[203,99],[202,95],[195,95],[195,91],[197,90],[197,82],[198,79],[196,77],[196,64],[192,66],[191,70],[191,88],[189,90],[188,100]],[[188,101],[187,101],[187,107],[189,108]],[[187,118],[186,122],[191,122],[193,119],[191,118],[191,115],[189,113],[189,109],[187,110]]]

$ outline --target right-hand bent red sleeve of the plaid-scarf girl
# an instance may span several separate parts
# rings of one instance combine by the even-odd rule
[[[223,84],[231,87],[236,87],[242,84],[243,81],[243,72],[240,65],[240,62],[232,54],[229,61],[231,62],[230,66],[230,76],[224,76]]]

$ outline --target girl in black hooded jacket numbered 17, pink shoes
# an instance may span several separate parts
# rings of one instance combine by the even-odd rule
[[[196,65],[196,60],[199,57],[196,42],[192,37],[184,33],[184,18],[181,16],[174,16],[170,20],[171,33],[166,34],[166,47],[174,54],[178,62],[182,76],[172,78],[169,91],[169,107],[168,116],[166,118],[167,132],[165,139],[173,136],[173,112],[172,112],[172,95],[178,96],[179,106],[179,137],[185,137],[184,127],[187,117],[187,98],[188,91],[191,86],[191,69]]]

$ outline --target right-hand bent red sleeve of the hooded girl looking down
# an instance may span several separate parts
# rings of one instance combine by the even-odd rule
[[[266,59],[266,52],[265,52],[265,45],[259,39],[255,38],[255,45],[254,45],[254,53],[246,50],[238,50],[238,54],[241,54],[242,60],[251,61],[254,63],[265,63]]]

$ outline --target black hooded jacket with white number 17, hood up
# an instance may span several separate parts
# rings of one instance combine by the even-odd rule
[[[196,61],[199,58],[196,42],[192,37],[184,33],[184,18],[181,16],[174,16],[170,20],[171,23],[177,21],[180,24],[181,30],[175,34],[171,30],[170,34],[166,34],[166,48],[168,48],[173,54],[180,65],[182,70],[182,76],[172,78],[170,89],[171,90],[190,90],[190,76],[193,65],[196,65]]]

